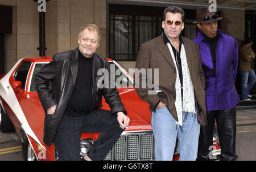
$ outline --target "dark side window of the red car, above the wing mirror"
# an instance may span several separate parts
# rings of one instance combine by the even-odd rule
[[[22,62],[22,64],[19,66],[19,68],[16,70],[14,74],[14,80],[15,81],[21,81],[22,89],[25,89],[26,80],[27,80],[27,74],[30,70],[31,62]]]

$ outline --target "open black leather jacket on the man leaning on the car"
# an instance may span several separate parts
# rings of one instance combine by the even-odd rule
[[[53,55],[52,61],[43,66],[38,74],[35,75],[36,90],[46,112],[43,140],[48,146],[51,145],[56,135],[60,120],[75,85],[79,66],[78,55],[78,47],[75,50],[57,53]],[[100,109],[102,96],[104,96],[112,114],[116,114],[118,111],[123,111],[123,113],[127,114],[117,89],[111,87],[100,89],[97,87],[98,79],[103,75],[103,73],[102,75],[97,75],[97,71],[100,68],[106,68],[110,75],[109,62],[101,55],[94,53],[92,64],[93,107]],[[50,87],[50,84],[52,84],[52,87]],[[57,105],[55,113],[47,114],[47,109],[53,105]]]

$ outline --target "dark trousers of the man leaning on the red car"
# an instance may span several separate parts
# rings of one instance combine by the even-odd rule
[[[103,160],[122,134],[116,115],[108,110],[96,110],[81,117],[64,114],[53,144],[59,160],[81,161],[80,137],[82,132],[101,132],[87,155],[91,160]]]

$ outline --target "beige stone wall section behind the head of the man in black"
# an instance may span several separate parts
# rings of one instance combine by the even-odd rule
[[[82,25],[94,23],[101,31],[97,53],[106,55],[106,0],[55,0],[47,2],[47,55],[75,49]]]

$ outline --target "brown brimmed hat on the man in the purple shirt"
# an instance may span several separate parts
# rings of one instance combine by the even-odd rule
[[[218,15],[215,12],[210,12],[208,8],[197,8],[196,10],[196,23],[208,23],[211,21],[218,21],[222,18],[218,18]]]

